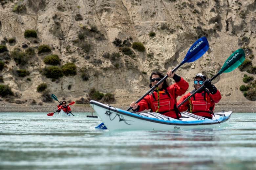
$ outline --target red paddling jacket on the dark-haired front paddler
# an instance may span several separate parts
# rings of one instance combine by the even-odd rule
[[[160,108],[158,110],[158,113],[173,118],[179,118],[181,117],[181,115],[176,107],[176,98],[184,94],[187,89],[188,82],[186,82],[182,77],[180,77],[179,81],[175,84],[170,85],[166,89],[160,89],[159,102],[158,93],[156,90],[154,90],[151,94],[148,94],[142,100],[139,101],[139,107],[134,111],[141,112],[143,110],[151,109],[152,112],[156,112],[158,110],[159,105]]]

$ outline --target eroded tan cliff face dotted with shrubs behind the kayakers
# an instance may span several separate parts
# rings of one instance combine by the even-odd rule
[[[177,70],[189,82],[188,91],[193,89],[196,73],[203,72],[211,78],[235,50],[249,48],[246,56],[255,55],[256,51],[255,0],[2,0],[0,3],[0,39],[9,53],[16,47],[25,50],[26,45],[37,52],[39,45],[47,44],[52,54],[60,57],[62,65],[74,62],[77,67],[77,75],[52,82],[41,73],[46,66],[43,59],[48,54],[36,54],[26,66],[1,56],[6,63],[1,71],[4,84],[28,102],[41,100],[36,88],[45,82],[51,93],[66,99],[85,98],[94,87],[114,93],[117,103],[130,103],[148,90],[153,70],[166,73],[173,69],[195,40],[203,36],[209,42],[208,52]],[[13,12],[17,5],[22,8]],[[24,38],[27,29],[36,30],[38,38]],[[156,35],[150,37],[150,32]],[[13,37],[15,43],[4,40]],[[145,52],[132,49],[133,42],[143,43]],[[124,54],[123,47],[130,47],[133,54]],[[107,55],[114,52],[119,52],[120,57]],[[255,58],[252,62],[256,65]],[[13,70],[17,68],[28,70],[31,81],[15,76]],[[81,78],[82,68],[89,78],[87,81]],[[214,80],[223,102],[252,103],[239,90],[244,84],[244,74],[256,79],[255,74],[236,69]]]

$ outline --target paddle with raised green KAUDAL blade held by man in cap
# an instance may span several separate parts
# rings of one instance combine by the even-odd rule
[[[243,49],[240,48],[228,57],[228,59],[225,61],[224,65],[222,66],[221,70],[215,76],[213,76],[210,79],[210,81],[215,79],[217,76],[219,76],[223,72],[227,73],[235,70],[238,66],[240,66],[244,62],[244,60],[245,60],[245,52]],[[188,98],[191,98],[192,96],[194,96],[198,91],[202,90],[203,87],[204,85],[202,85],[199,89],[197,89],[194,93],[192,93]],[[188,98],[183,100],[177,107],[180,107],[183,103],[185,103],[188,100]]]

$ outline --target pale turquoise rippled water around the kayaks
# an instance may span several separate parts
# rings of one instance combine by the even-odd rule
[[[96,130],[90,113],[0,113],[4,170],[256,169],[256,116],[233,113],[219,130]]]

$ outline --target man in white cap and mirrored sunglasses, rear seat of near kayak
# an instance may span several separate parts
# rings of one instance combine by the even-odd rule
[[[179,107],[179,111],[188,111],[195,115],[203,116],[206,118],[212,118],[215,103],[221,100],[221,93],[219,90],[211,84],[210,79],[206,79],[202,73],[198,73],[194,78],[194,90],[182,96],[177,102],[179,105],[183,100],[188,98],[193,92],[199,89],[202,85],[204,87],[198,93],[196,93],[191,99],[187,100],[184,104]]]

